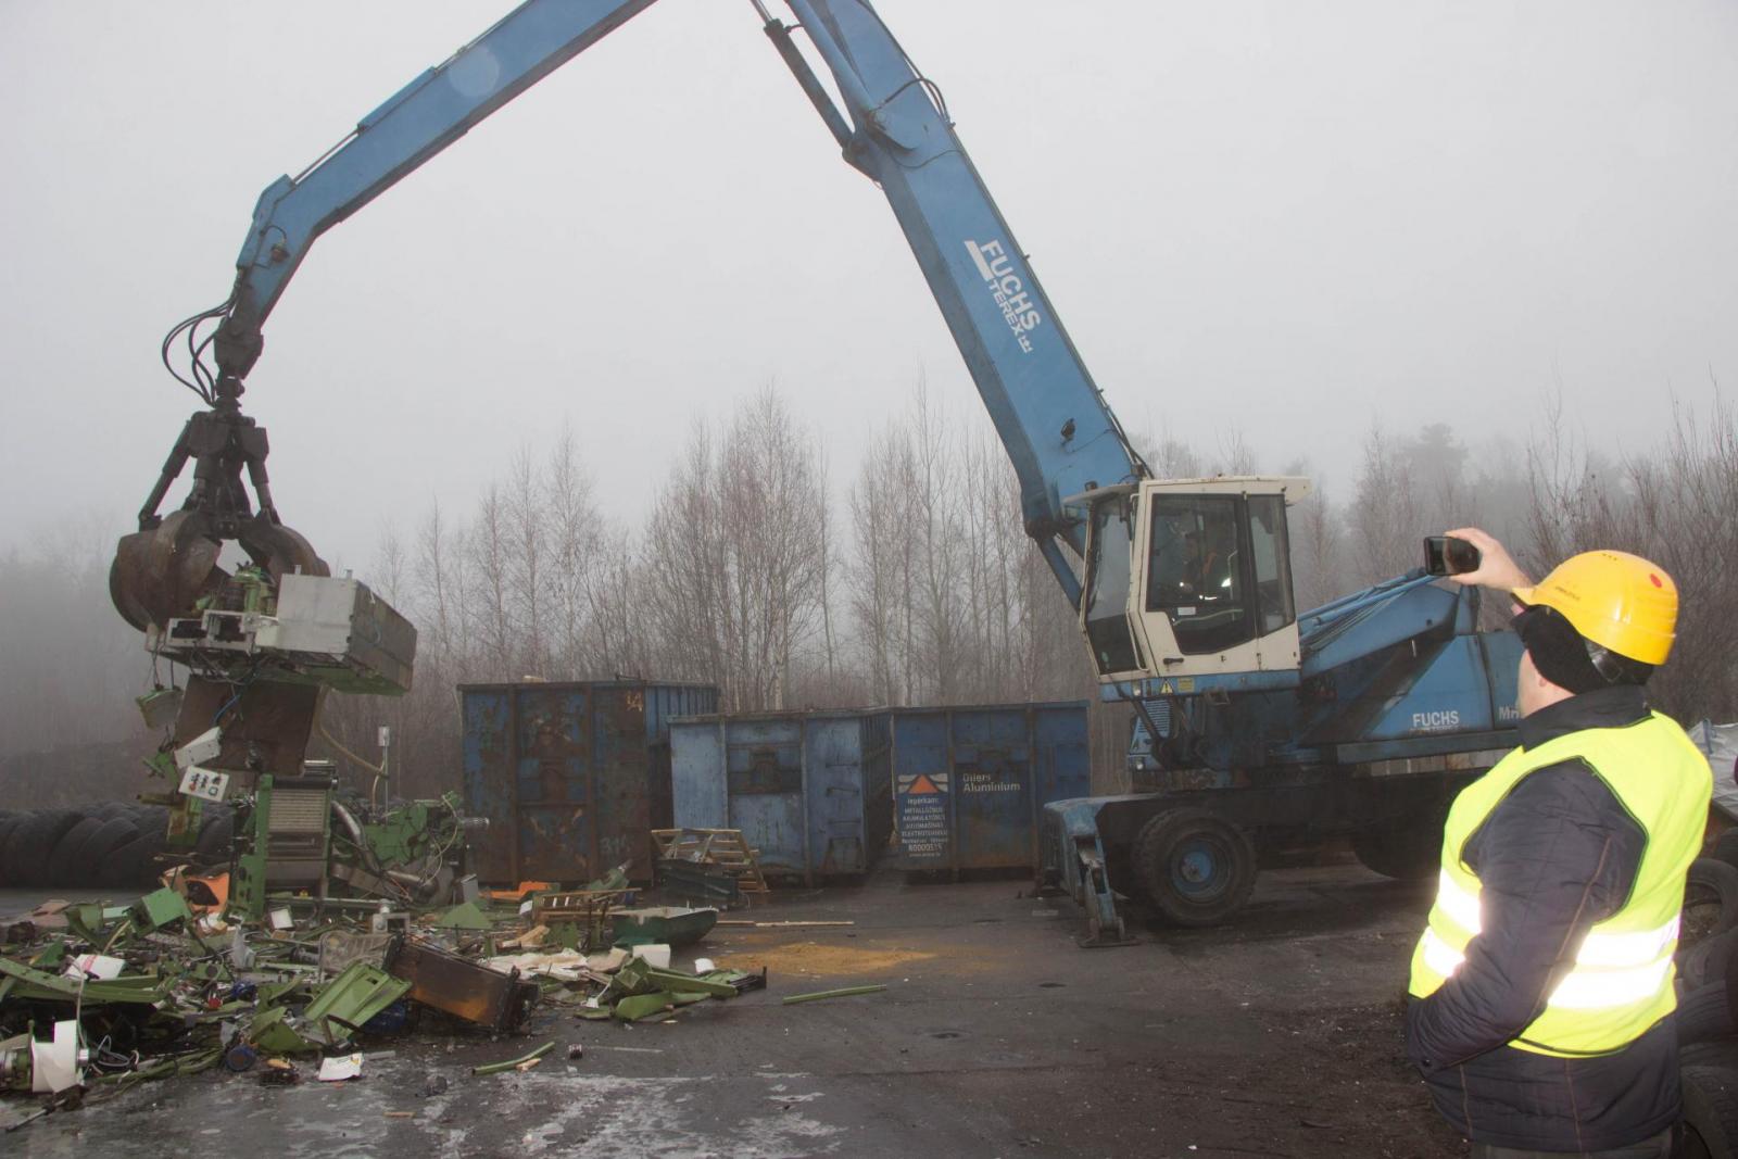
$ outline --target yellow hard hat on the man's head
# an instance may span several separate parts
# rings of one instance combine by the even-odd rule
[[[1677,584],[1627,551],[1583,551],[1516,599],[1556,608],[1585,639],[1641,664],[1665,664],[1677,627]]]

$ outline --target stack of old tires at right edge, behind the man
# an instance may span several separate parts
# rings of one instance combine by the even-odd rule
[[[1689,867],[1677,954],[1688,1159],[1738,1159],[1738,831]]]

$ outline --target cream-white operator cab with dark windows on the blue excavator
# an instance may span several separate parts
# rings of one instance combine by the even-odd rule
[[[1309,480],[1142,480],[1090,511],[1081,627],[1100,681],[1297,671],[1286,506]]]

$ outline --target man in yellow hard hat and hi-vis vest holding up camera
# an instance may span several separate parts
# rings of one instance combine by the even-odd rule
[[[1491,535],[1449,535],[1479,549],[1453,580],[1514,596],[1521,747],[1449,810],[1406,1051],[1476,1159],[1665,1159],[1682,1114],[1672,952],[1710,792],[1642,692],[1677,589],[1620,551],[1531,584]]]

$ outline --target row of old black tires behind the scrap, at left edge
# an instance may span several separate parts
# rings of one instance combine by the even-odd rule
[[[207,808],[198,846],[176,857],[217,862],[228,857],[233,817]],[[169,810],[106,801],[71,808],[0,811],[0,886],[63,890],[151,886],[163,872]]]

